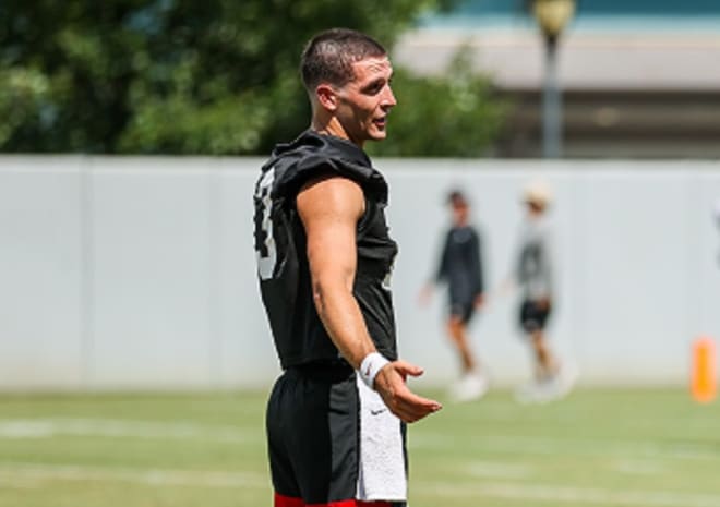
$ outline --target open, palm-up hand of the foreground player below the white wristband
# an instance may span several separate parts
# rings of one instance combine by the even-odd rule
[[[389,411],[406,423],[419,421],[443,408],[435,400],[413,394],[405,384],[408,375],[417,377],[422,373],[419,366],[405,361],[394,361],[383,366],[375,377],[375,390]]]

